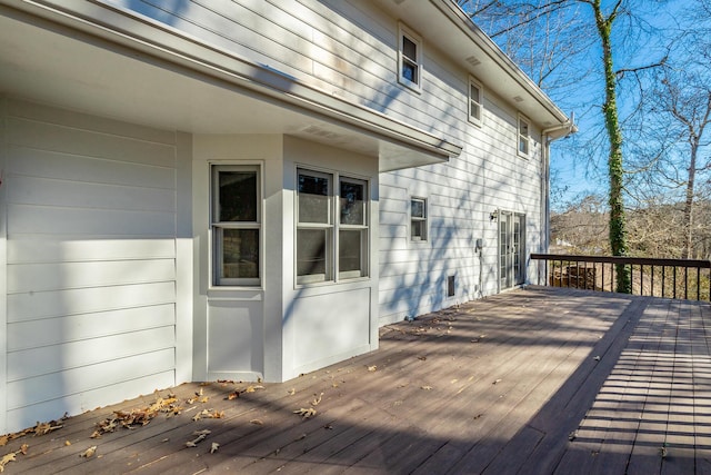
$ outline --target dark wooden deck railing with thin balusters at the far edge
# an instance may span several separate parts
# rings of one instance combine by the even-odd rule
[[[615,291],[615,269],[625,266],[632,294],[711,300],[711,261],[644,257],[531,254],[539,265],[539,284]]]

